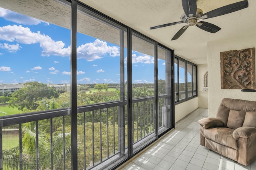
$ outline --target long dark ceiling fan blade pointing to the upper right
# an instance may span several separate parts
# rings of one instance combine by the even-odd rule
[[[247,7],[248,7],[248,0],[244,0],[244,1],[236,2],[234,4],[230,4],[230,5],[223,6],[223,7],[217,8],[215,10],[206,12],[201,17],[203,18],[203,16],[207,15],[207,18],[213,18],[213,17],[229,14],[231,12],[235,12],[238,10],[242,10]]]

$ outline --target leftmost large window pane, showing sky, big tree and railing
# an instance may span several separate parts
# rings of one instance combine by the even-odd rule
[[[71,166],[70,6],[44,3],[0,8],[0,116],[12,119],[0,127],[3,169]],[[35,8],[43,14],[20,10]]]

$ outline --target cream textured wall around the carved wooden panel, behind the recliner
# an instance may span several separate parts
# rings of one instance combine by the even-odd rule
[[[254,35],[255,36],[255,35]],[[215,117],[217,109],[223,98],[234,98],[256,101],[255,92],[241,92],[237,89],[221,89],[220,85],[220,52],[229,50],[240,50],[256,47],[253,35],[247,37],[230,38],[208,43],[208,106],[209,117]]]

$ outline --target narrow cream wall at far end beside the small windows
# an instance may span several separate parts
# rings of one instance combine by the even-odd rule
[[[207,64],[198,64],[198,107],[208,108],[208,91],[203,91],[204,87],[204,74],[207,71]]]

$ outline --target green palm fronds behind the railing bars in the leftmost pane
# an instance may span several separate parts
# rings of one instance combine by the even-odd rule
[[[44,130],[43,130],[44,129]],[[39,169],[51,169],[50,134],[45,127],[38,128]],[[35,122],[22,124],[22,166],[24,170],[36,169],[36,129]],[[64,155],[66,162],[71,160],[71,134],[65,133],[65,151],[63,151],[63,133],[53,134],[54,167],[63,169]],[[20,169],[19,147],[3,150],[3,167],[8,170]]]

